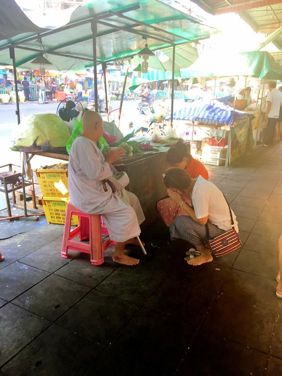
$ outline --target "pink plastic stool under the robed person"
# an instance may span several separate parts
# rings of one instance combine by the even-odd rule
[[[71,217],[79,217],[79,226],[71,230]],[[66,221],[64,228],[63,244],[61,256],[68,258],[68,250],[85,252],[90,254],[90,261],[93,265],[100,265],[104,262],[104,251],[111,244],[115,244],[109,237],[102,240],[103,235],[109,235],[107,228],[101,218],[101,215],[87,214],[75,208],[71,202],[68,202]],[[80,237],[79,241],[72,240],[75,236]],[[89,244],[81,243],[82,240],[89,239]]]

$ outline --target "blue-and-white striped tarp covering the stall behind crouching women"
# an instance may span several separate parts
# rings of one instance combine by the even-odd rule
[[[237,111],[234,112],[234,118],[245,119],[248,118],[246,112]],[[181,110],[173,113],[174,120],[190,120],[200,121],[203,123],[219,123],[219,124],[233,124],[233,108],[227,106],[218,100],[207,101],[197,100],[182,108]],[[166,120],[170,119],[170,115],[166,117]]]

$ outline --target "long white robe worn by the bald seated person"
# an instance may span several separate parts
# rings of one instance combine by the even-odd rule
[[[85,213],[102,214],[110,238],[123,242],[140,235],[139,224],[145,217],[133,193],[114,194],[108,185],[108,191],[104,191],[102,181],[110,176],[111,167],[95,143],[84,136],[77,137],[69,158],[71,203]],[[129,203],[121,198],[124,193]]]

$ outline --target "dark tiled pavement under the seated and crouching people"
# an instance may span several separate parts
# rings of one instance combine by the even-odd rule
[[[282,375],[282,146],[244,161],[208,166],[243,240],[210,264],[164,235],[136,268],[61,258],[60,226],[1,241],[0,375]]]

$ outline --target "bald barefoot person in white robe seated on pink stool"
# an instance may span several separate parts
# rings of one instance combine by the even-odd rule
[[[139,260],[124,253],[126,244],[139,244],[136,236],[139,225],[145,220],[138,198],[126,191],[126,200],[120,192],[113,193],[109,185],[103,188],[103,180],[113,175],[111,165],[120,160],[122,148],[110,149],[103,156],[96,142],[103,134],[103,120],[94,111],[82,118],[83,133],[71,145],[69,158],[69,191],[71,203],[79,210],[101,214],[111,240],[116,242],[113,260],[123,265],[137,265]],[[127,202],[125,202],[127,201]]]

